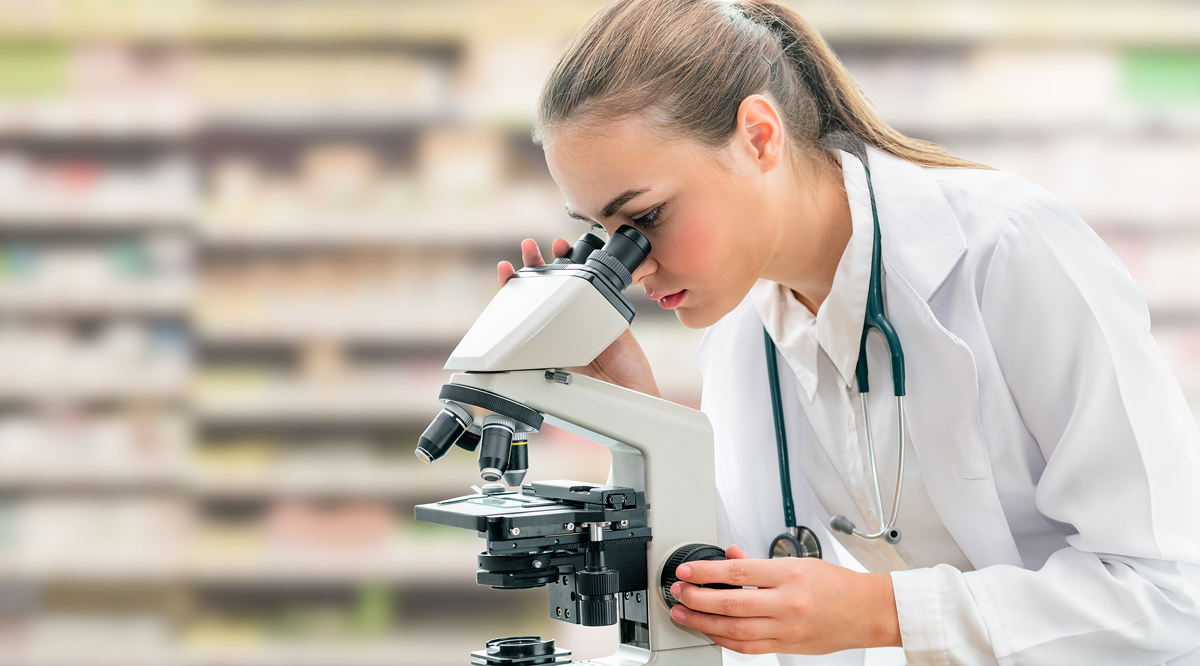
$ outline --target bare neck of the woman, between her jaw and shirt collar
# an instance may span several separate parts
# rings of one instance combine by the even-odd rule
[[[814,314],[833,288],[833,276],[853,232],[840,156],[832,164],[836,168],[786,179],[810,185],[786,186],[779,192],[772,206],[779,211],[775,252],[762,275],[790,288]]]

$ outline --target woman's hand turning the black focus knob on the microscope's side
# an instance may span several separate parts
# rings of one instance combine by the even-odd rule
[[[750,559],[730,546],[725,562],[680,565],[671,618],[744,654],[828,654],[900,647],[887,574],[858,574],[816,558]],[[691,584],[695,583],[695,584]],[[707,589],[728,583],[757,589]]]

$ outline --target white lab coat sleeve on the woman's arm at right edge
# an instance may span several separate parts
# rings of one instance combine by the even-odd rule
[[[1013,209],[980,277],[1046,460],[1037,509],[1076,533],[1038,570],[893,574],[910,665],[982,662],[989,643],[1000,664],[1200,664],[1200,439],[1145,300],[1050,197]]]

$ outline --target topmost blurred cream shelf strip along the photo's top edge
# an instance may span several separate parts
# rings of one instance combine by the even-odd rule
[[[962,43],[1102,42],[1111,44],[1188,46],[1200,41],[1200,7],[1181,1],[1094,4],[1073,0],[889,2],[853,0],[821,4],[788,2],[830,42]],[[547,32],[571,34],[604,5],[520,1],[503,7],[488,2],[306,2],[283,13],[271,4],[217,4],[211,0],[155,12],[62,12],[41,22],[7,16],[5,38],[91,41],[97,38],[190,43],[457,43],[491,23],[536,12]],[[89,20],[90,19],[90,20]],[[1069,26],[1069,31],[1064,29]]]

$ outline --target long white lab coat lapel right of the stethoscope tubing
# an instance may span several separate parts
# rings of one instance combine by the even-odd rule
[[[983,438],[974,356],[928,304],[965,254],[966,239],[925,170],[874,148],[868,158],[887,314],[907,361],[907,427],[929,496],[977,569],[1021,565]]]

